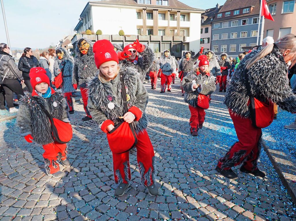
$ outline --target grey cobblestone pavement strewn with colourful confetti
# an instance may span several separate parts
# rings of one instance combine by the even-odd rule
[[[233,181],[214,170],[218,158],[237,140],[231,118],[215,92],[198,137],[189,132],[189,109],[179,89],[149,92],[148,133],[155,148],[158,197],[140,184],[136,152],[130,154],[133,184],[114,196],[112,154],[106,135],[83,122],[83,106],[71,115],[73,139],[68,144],[67,176],[44,173],[43,149],[20,137],[16,120],[0,122],[0,220],[296,220],[295,205],[263,151],[261,179],[239,173]],[[281,130],[281,129],[279,129]],[[270,135],[264,136],[270,139]]]

